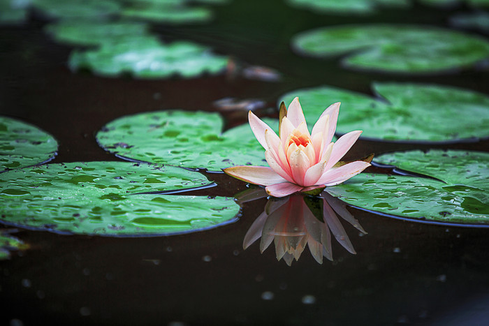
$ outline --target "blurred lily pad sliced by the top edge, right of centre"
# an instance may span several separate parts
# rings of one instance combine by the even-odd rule
[[[315,13],[334,13],[339,15],[365,15],[375,13],[384,7],[406,8],[409,0],[288,0],[292,6],[307,8]]]

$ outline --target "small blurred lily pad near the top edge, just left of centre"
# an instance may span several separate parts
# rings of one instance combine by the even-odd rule
[[[212,19],[212,11],[204,7],[175,6],[161,3],[136,4],[122,10],[121,14],[123,17],[166,24],[208,22]]]

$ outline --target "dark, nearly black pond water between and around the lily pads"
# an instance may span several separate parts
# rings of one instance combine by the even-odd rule
[[[195,27],[154,26],[165,40],[187,38],[249,64],[282,72],[282,82],[225,76],[193,80],[132,80],[73,74],[70,47],[43,34],[33,15],[25,27],[0,29],[0,112],[52,133],[53,163],[115,161],[94,133],[125,114],[181,108],[214,110],[227,96],[261,98],[270,106],[300,87],[328,84],[370,93],[372,81],[433,82],[489,94],[489,73],[474,68],[435,76],[347,71],[335,59],[302,58],[289,50],[293,34],[328,24],[404,22],[447,27],[458,10],[414,6],[367,17],[315,15],[282,1],[240,1],[215,7],[216,20]],[[156,95],[155,94],[160,94]],[[270,110],[262,115],[273,116]],[[246,112],[224,113],[228,126]],[[341,119],[341,117],[340,117]],[[489,150],[489,142],[439,145]],[[428,145],[359,141],[349,157]],[[219,186],[202,195],[234,195],[245,184],[209,175]],[[319,265],[308,249],[289,267],[273,245],[260,254],[242,240],[266,200],[248,202],[231,225],[172,237],[118,239],[20,230],[31,249],[0,262],[0,320],[5,325],[483,325],[489,312],[489,230],[427,225],[357,209],[367,235],[348,223],[356,249],[333,239],[333,258]],[[180,322],[181,324],[170,324]],[[16,324],[17,323],[17,324]]]

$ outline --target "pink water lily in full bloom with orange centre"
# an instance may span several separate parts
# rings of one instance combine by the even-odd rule
[[[331,142],[339,110],[340,103],[330,105],[309,133],[296,97],[279,123],[279,136],[250,111],[249,125],[265,148],[265,159],[270,167],[243,165],[224,169],[224,172],[251,184],[266,186],[267,193],[274,197],[335,186],[358,175],[370,163],[354,161],[337,165],[362,133],[351,131],[337,142]]]

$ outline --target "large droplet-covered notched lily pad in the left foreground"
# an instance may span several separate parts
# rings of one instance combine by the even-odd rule
[[[61,233],[152,236],[235,221],[233,198],[161,195],[208,184],[198,172],[144,163],[40,165],[0,175],[0,221]]]

